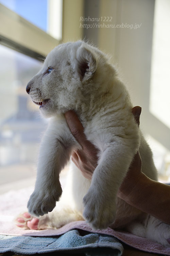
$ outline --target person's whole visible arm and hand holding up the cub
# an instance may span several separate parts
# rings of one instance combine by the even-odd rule
[[[139,125],[141,109],[135,107],[132,112]],[[72,160],[82,174],[91,179],[97,165],[98,150],[86,139],[77,115],[68,111],[65,117],[73,136],[82,145],[82,150],[74,152]],[[141,172],[139,153],[134,157],[117,195],[139,210],[170,224],[170,186],[151,180]]]

